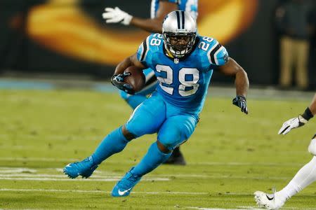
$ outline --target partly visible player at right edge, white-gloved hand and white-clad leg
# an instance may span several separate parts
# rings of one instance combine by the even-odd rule
[[[296,127],[301,127],[308,123],[308,120],[315,116],[316,113],[316,94],[312,103],[305,109],[304,113],[296,118],[291,118],[283,123],[278,134],[287,134],[292,129]],[[303,166],[294,178],[278,192],[273,192],[273,194],[263,193],[261,191],[256,191],[254,193],[255,200],[259,207],[265,207],[266,209],[279,209],[284,203],[289,200],[290,197],[296,195],[296,193],[303,190],[305,187],[309,186],[311,183],[316,181],[316,134],[312,137],[310,141],[310,146],[308,146],[308,152],[310,152],[313,157],[308,164]]]

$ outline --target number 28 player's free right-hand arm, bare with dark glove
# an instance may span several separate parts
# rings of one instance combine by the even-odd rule
[[[232,99],[232,104],[238,106],[242,112],[248,114],[246,94],[249,88],[249,80],[246,71],[231,57],[228,57],[228,61],[223,66],[218,66],[218,69],[227,76],[235,77],[236,97]]]

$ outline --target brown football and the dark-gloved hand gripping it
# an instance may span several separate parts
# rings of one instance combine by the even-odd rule
[[[141,69],[136,66],[129,66],[124,73],[113,75],[112,85],[123,90],[128,94],[135,94],[143,89],[145,85],[145,75]]]

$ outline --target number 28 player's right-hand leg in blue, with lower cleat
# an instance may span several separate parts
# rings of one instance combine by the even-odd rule
[[[165,162],[173,148],[185,142],[195,130],[197,120],[193,116],[173,116],[167,118],[158,132],[157,142],[148,149],[136,167],[133,167],[114,186],[112,196],[121,197],[131,193],[134,186],[147,173]]]

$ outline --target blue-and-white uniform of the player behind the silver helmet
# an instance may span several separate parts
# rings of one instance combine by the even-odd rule
[[[155,18],[157,10],[159,8],[159,1],[161,0],[152,0],[150,8],[150,18]],[[190,13],[192,18],[197,20],[197,0],[165,0],[171,3],[176,3],[178,5],[178,10],[187,11]]]

